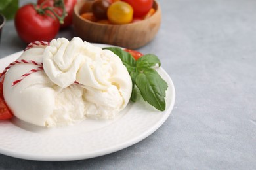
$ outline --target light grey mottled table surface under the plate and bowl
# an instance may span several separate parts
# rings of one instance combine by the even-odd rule
[[[159,2],[160,31],[139,50],[156,54],[175,84],[175,107],[163,126],[129,148],[87,160],[0,154],[0,169],[256,168],[256,1]],[[58,34],[74,36],[72,28]],[[25,46],[8,21],[0,58]]]

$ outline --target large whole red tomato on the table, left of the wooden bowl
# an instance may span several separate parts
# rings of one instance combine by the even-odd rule
[[[39,6],[36,6],[39,8]],[[51,16],[49,16],[49,14]],[[51,41],[60,28],[60,23],[49,10],[39,14],[34,5],[24,5],[16,12],[15,27],[20,38],[27,42]]]

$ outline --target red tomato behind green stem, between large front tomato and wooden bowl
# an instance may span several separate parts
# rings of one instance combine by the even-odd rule
[[[62,8],[60,7],[61,0],[38,0],[37,5],[43,5],[49,6],[49,7],[56,7],[55,11],[58,15],[62,16]],[[72,14],[74,11],[74,6],[77,3],[77,0],[64,0],[64,5],[66,8],[67,16],[64,19],[64,24],[60,24],[61,28],[68,27],[72,25]]]

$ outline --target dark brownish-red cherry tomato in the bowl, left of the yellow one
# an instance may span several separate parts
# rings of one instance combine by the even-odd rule
[[[97,0],[92,5],[93,14],[100,20],[107,19],[107,10],[110,7],[110,2],[106,0]]]

